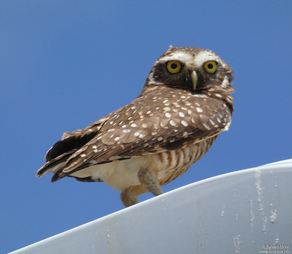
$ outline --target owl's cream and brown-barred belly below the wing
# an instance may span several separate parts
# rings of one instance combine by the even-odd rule
[[[141,185],[138,171],[148,168],[157,174],[161,186],[176,179],[199,160],[209,149],[216,137],[173,151],[116,160],[93,165],[72,173],[75,177],[101,179],[117,190],[125,190],[133,185]]]

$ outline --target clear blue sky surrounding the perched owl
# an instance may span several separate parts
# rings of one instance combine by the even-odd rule
[[[170,44],[216,52],[236,92],[230,130],[165,191],[292,158],[291,9],[292,1],[1,1],[0,253],[123,209],[104,183],[51,184],[52,174],[35,173],[63,132],[138,96]]]

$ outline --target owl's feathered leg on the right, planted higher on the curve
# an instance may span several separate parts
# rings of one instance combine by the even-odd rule
[[[155,196],[163,194],[157,175],[148,169],[140,169],[138,171],[138,178],[142,186],[152,192]]]

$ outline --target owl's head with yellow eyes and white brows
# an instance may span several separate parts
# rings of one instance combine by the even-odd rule
[[[193,91],[208,87],[229,90],[231,79],[231,68],[214,52],[170,46],[154,63],[144,89],[166,85]]]

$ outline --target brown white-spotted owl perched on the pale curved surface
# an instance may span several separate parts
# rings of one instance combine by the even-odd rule
[[[197,162],[233,112],[232,70],[214,52],[172,47],[154,63],[141,94],[84,129],[65,132],[36,176],[74,177],[120,190],[125,207]]]

